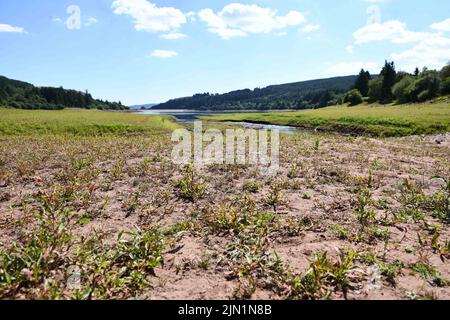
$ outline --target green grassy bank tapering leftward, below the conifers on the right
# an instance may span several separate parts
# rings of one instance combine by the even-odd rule
[[[248,121],[376,137],[399,137],[450,132],[450,102],[441,99],[434,103],[414,105],[365,104],[297,112],[213,115],[202,119]]]

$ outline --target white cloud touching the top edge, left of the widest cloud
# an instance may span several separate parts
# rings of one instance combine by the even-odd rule
[[[157,7],[147,0],[114,0],[114,13],[134,19],[137,31],[173,32],[187,22],[183,12],[172,7]]]

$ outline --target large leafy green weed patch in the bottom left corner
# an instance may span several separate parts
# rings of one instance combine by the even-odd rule
[[[121,233],[103,245],[102,237],[73,236],[77,220],[50,207],[35,215],[37,224],[23,240],[0,251],[0,297],[99,299],[137,294],[163,262],[167,239],[155,228]],[[67,287],[78,270],[77,288]],[[88,280],[89,279],[89,280]]]

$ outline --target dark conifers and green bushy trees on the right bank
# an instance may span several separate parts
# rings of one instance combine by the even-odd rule
[[[450,63],[441,70],[418,68],[414,73],[396,71],[394,62],[386,61],[379,76],[373,77],[364,69],[358,75],[353,89],[344,96],[350,105],[369,102],[399,104],[425,102],[450,94]]]

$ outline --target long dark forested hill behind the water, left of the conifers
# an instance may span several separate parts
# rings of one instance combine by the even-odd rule
[[[153,109],[271,110],[312,109],[333,104],[357,76],[335,77],[244,89],[225,94],[196,94],[161,103]]]

